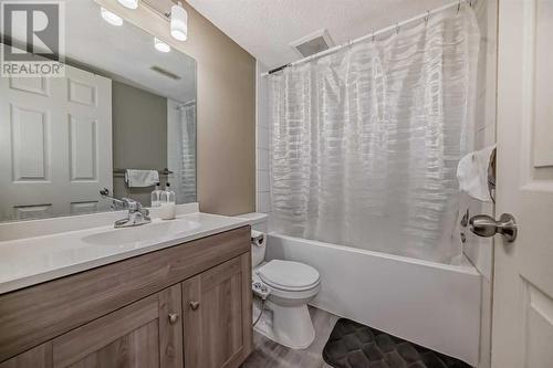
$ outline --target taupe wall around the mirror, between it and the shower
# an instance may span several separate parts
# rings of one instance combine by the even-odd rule
[[[128,10],[96,0],[198,63],[198,200],[202,212],[239,214],[255,209],[255,60],[194,8],[188,41],[146,7]]]

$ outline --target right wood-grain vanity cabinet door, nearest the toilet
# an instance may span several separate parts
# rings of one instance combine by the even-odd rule
[[[182,283],[186,368],[236,368],[251,353],[251,255]]]

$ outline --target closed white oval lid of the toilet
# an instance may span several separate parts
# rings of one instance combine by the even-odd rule
[[[280,290],[306,290],[319,283],[319,272],[310,265],[273,260],[259,267],[259,277],[269,286]]]

